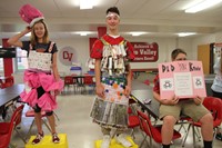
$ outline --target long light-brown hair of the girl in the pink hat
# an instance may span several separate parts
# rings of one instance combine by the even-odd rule
[[[39,20],[37,21],[33,27],[32,27],[32,30],[31,30],[31,37],[30,37],[30,41],[31,41],[31,45],[37,45],[38,42],[38,37],[37,34],[34,33],[34,26],[37,23],[42,23],[44,26],[44,36],[43,36],[43,43],[49,43],[49,30],[47,28],[47,23],[43,21],[43,20]]]

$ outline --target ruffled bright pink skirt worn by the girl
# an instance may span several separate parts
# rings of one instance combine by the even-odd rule
[[[31,107],[38,105],[44,111],[52,111],[57,108],[53,92],[54,90],[61,91],[63,89],[63,80],[56,81],[53,75],[26,70],[23,81],[26,89],[20,95],[23,102]],[[37,91],[39,87],[42,87],[46,91],[40,98],[38,98]]]

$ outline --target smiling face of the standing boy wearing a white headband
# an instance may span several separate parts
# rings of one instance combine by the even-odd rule
[[[115,13],[108,14],[107,26],[110,30],[118,30],[119,23],[120,23],[120,18]]]

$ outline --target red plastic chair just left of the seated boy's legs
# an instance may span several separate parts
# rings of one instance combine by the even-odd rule
[[[154,140],[158,144],[162,144],[162,137],[161,137],[162,126],[161,125],[153,126],[151,124],[150,117],[140,110],[138,110],[138,116],[140,119],[140,128],[142,129],[142,131],[145,132],[145,137],[144,137],[143,141],[141,142],[140,147],[143,145],[143,142],[145,141],[148,136],[150,137],[150,147],[151,148],[152,148],[152,140]],[[178,132],[176,130],[174,130],[172,140],[179,139],[180,137],[181,137],[181,134]]]

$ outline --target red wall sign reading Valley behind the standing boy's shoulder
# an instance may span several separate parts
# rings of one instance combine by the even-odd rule
[[[148,42],[131,42],[134,50],[135,58],[132,62],[148,62],[158,60],[158,43]]]

